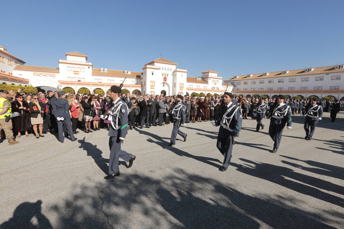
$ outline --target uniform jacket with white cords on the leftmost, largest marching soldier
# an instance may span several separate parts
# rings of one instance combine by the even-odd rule
[[[120,103],[122,103],[122,104],[120,105]],[[118,113],[117,113],[118,123],[116,122],[116,116],[117,115],[112,115],[112,114],[110,114],[110,115],[112,117],[112,122],[113,122],[114,126],[116,127],[116,125],[117,125],[118,129],[116,130],[112,126],[112,123],[110,123],[110,129],[109,129],[108,136],[125,138],[126,135],[128,134],[128,106],[120,98],[115,103],[115,106],[111,108],[111,112],[116,113],[117,110],[118,110]]]

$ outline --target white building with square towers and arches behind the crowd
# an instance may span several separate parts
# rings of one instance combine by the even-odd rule
[[[204,94],[223,94],[227,84],[217,72],[208,70],[202,72],[201,77],[187,77],[187,70],[176,68],[175,62],[159,58],[144,65],[143,72],[130,70],[111,70],[107,68],[93,68],[92,62],[87,61],[87,55],[74,51],[65,53],[66,59],[58,61],[59,68],[16,65],[13,68],[15,76],[29,79],[34,87],[72,88],[74,93],[86,88],[88,93],[101,89],[108,93],[112,85],[123,82],[122,89],[131,94],[165,94],[191,95],[193,92]],[[228,84],[227,91],[233,85]]]

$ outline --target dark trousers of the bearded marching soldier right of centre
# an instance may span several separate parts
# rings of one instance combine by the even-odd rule
[[[227,133],[227,134],[224,134],[224,133]],[[228,137],[223,137],[223,136],[228,136]],[[225,157],[225,159],[223,160],[222,166],[225,168],[228,168],[229,163],[230,163],[230,158],[232,158],[233,139],[232,139],[231,132],[223,128],[222,126],[220,126],[220,129],[218,131],[216,147]]]

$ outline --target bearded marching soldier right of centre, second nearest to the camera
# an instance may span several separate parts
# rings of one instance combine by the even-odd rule
[[[225,92],[223,95],[224,104],[221,105],[219,112],[219,118],[213,123],[213,126],[220,126],[217,135],[217,149],[225,157],[222,168],[220,171],[227,170],[230,158],[232,158],[233,142],[234,138],[239,137],[241,130],[241,124],[243,123],[243,113],[238,103],[233,103],[234,95],[229,92]]]

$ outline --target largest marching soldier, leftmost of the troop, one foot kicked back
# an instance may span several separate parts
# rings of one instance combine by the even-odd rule
[[[118,161],[119,158],[129,161],[128,167],[132,166],[135,156],[121,150],[121,143],[128,133],[128,106],[120,98],[122,89],[116,85],[111,86],[110,98],[114,101],[114,106],[110,108],[108,114],[101,115],[100,118],[107,118],[110,121],[109,128],[109,175],[105,179],[111,179],[119,176]]]

